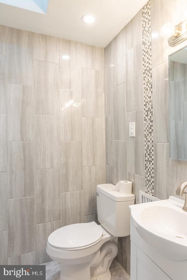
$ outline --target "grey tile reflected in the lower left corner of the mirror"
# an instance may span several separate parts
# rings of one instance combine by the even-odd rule
[[[170,158],[182,159],[182,121],[171,120],[170,122]]]

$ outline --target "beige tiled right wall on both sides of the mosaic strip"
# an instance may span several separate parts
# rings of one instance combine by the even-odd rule
[[[185,0],[150,0],[152,40],[152,83],[153,83],[153,141],[154,141],[154,191],[160,199],[175,195],[176,187],[187,178],[187,162],[169,160],[168,129],[168,55],[187,45],[187,41],[176,47],[169,47],[166,39],[160,37],[160,27],[166,22],[179,24],[183,11],[187,9]],[[119,40],[124,36],[123,40]],[[124,46],[118,44],[124,43]],[[125,48],[125,59],[120,50]],[[116,59],[119,50],[120,64]],[[115,64],[115,66],[114,66]],[[125,65],[125,89],[122,90],[123,106],[118,102],[116,88],[123,75]],[[116,71],[115,69],[118,69]],[[145,191],[145,152],[144,152],[144,104],[142,73],[142,15],[141,10],[124,29],[105,48],[105,129],[106,129],[106,180],[116,183],[116,169],[119,166],[122,176],[133,182],[136,203],[139,202],[139,190]],[[116,75],[118,76],[116,78]],[[113,93],[113,95],[112,95]],[[126,99],[126,100],[125,100]],[[122,99],[121,99],[122,100]],[[126,113],[127,111],[127,113]],[[127,121],[124,127],[123,121]],[[130,138],[129,122],[136,122],[136,137]],[[127,132],[126,132],[127,131]],[[125,135],[126,134],[126,135]],[[120,145],[116,145],[116,136],[125,137],[124,156],[120,158]],[[122,151],[121,151],[122,152]],[[116,158],[118,157],[118,161]],[[126,173],[127,170],[127,173]],[[127,174],[127,177],[125,177]],[[122,266],[130,273],[130,239],[119,238],[117,255]]]

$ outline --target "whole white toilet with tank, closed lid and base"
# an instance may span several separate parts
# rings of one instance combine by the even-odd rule
[[[62,264],[60,280],[111,280],[117,237],[130,234],[129,205],[135,196],[117,185],[97,185],[98,221],[67,225],[49,235],[46,252]]]

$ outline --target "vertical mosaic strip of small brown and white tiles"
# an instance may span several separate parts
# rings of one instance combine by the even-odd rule
[[[150,1],[142,8],[142,45],[143,45],[143,97],[145,133],[145,171],[146,193],[154,196],[153,170],[153,96],[151,60],[151,12]]]

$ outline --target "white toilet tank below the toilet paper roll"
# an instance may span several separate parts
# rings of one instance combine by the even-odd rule
[[[113,236],[130,235],[129,205],[135,195],[120,193],[112,184],[97,185],[97,214],[99,223]]]

